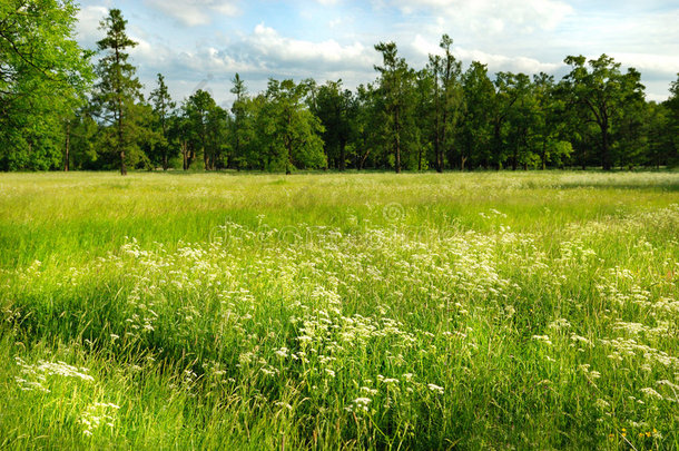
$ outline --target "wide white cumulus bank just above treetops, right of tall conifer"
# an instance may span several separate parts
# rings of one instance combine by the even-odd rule
[[[311,41],[282,36],[263,23],[235,40],[193,49],[176,49],[160,42],[134,38],[139,45],[130,51],[139,67],[147,90],[155,85],[156,72],[167,76],[178,99],[196,89],[213,94],[217,101],[230,101],[230,79],[238,72],[258,92],[270,77],[318,82],[342,79],[354,88],[375,77],[373,65],[378,55],[360,42],[342,45],[335,40]]]

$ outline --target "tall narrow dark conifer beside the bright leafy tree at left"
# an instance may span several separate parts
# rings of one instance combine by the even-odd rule
[[[135,77],[136,68],[129,60],[127,49],[137,46],[126,35],[127,20],[122,19],[119,9],[111,9],[100,23],[106,38],[97,42],[100,52],[105,52],[97,66],[99,82],[95,87],[92,102],[98,107],[99,118],[114,127],[108,143],[120,157],[120,174],[127,175],[127,158],[131,163],[139,159],[135,140],[140,133],[138,118],[135,117],[135,102],[144,99],[141,84]]]

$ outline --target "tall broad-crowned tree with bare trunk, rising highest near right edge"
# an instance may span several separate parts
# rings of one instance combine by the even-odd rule
[[[564,62],[571,66],[571,72],[564,77],[571,105],[585,122],[593,122],[599,128],[601,166],[603,170],[610,170],[611,129],[626,106],[643,101],[640,73],[633,68],[622,73],[620,63],[607,55],[589,61],[583,56],[569,56]]]

